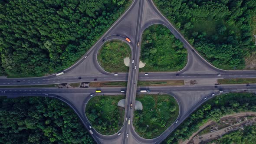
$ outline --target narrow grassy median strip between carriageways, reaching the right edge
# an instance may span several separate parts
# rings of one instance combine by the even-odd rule
[[[256,83],[256,78],[251,79],[218,79],[219,84],[246,84]]]

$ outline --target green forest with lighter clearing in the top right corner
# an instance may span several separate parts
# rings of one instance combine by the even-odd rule
[[[256,0],[154,0],[197,51],[221,69],[244,69],[256,52]],[[254,58],[255,59],[255,58]]]

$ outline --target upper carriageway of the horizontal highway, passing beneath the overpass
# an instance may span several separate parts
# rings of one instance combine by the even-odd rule
[[[131,65],[134,66],[134,65]],[[176,74],[179,74],[178,76]],[[256,78],[256,72],[229,72],[212,74],[180,74],[177,72],[148,72],[139,73],[138,80],[171,80],[171,79],[224,79],[224,78]],[[81,77],[81,79],[79,79]],[[95,82],[97,81],[127,81],[128,73],[118,73],[114,75],[81,75],[81,76],[63,76],[54,78],[24,78],[24,79],[0,79],[0,85],[46,85],[71,82]],[[19,82],[18,82],[19,81]]]

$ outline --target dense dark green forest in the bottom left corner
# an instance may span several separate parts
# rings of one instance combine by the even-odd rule
[[[94,144],[79,117],[53,98],[0,97],[1,144]]]

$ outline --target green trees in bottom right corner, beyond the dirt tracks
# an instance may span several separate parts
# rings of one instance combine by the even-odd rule
[[[232,131],[225,134],[217,140],[208,144],[255,144],[256,142],[256,124],[247,126],[244,130]]]

